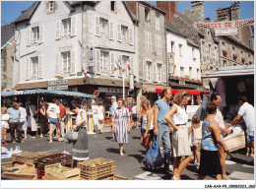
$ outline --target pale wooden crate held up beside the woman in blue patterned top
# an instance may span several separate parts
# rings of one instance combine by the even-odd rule
[[[229,152],[245,148],[246,143],[244,131],[224,137],[224,145]]]

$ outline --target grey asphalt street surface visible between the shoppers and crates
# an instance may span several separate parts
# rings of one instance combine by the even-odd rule
[[[141,164],[145,157],[146,151],[140,145],[141,132],[140,128],[132,129],[129,134],[128,144],[124,145],[124,157],[119,155],[118,143],[112,141],[111,127],[106,125],[102,129],[102,134],[89,134],[89,151],[90,158],[108,158],[116,161],[116,175],[128,177],[133,180],[169,180],[172,171],[166,172],[162,168],[157,170],[145,169]],[[10,141],[10,133],[7,134],[7,140]],[[72,144],[58,142],[57,138],[53,143],[49,143],[49,138],[32,138],[24,144],[9,143],[3,145],[8,150],[19,146],[22,151],[29,152],[48,152],[52,154],[67,151],[71,154]],[[244,150],[231,153],[226,158],[226,173],[230,180],[254,180],[254,159],[246,157]],[[172,165],[170,164],[170,169]],[[181,174],[182,180],[195,180],[197,178],[197,167],[190,162]],[[215,180],[214,177],[207,176],[206,180]]]

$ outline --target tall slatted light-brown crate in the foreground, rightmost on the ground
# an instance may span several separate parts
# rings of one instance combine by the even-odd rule
[[[113,177],[115,174],[115,161],[106,158],[95,158],[78,162],[80,175],[86,180],[100,180]]]

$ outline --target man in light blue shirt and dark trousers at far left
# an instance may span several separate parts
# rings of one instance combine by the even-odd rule
[[[17,130],[18,142],[24,143],[20,123],[21,111],[19,109],[19,103],[14,102],[13,106],[7,109],[7,113],[10,115],[9,126],[12,143],[16,143],[15,130]]]

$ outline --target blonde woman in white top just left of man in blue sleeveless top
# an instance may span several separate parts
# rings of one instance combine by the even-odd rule
[[[154,126],[153,126],[153,111],[149,108],[149,100],[142,100],[142,117],[141,117],[141,145],[145,147],[148,152],[152,146],[154,137]]]

